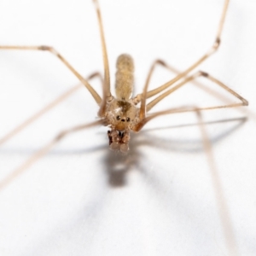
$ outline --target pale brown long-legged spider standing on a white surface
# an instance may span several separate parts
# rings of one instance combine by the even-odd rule
[[[104,62],[104,78],[102,83],[102,96],[99,96],[94,90],[89,81],[93,77],[99,76],[98,73],[91,75],[88,79],[84,79],[70,64],[69,62],[54,48],[49,46],[1,46],[0,49],[23,49],[23,50],[40,50],[40,51],[48,51],[49,53],[55,55],[61,62],[69,68],[75,76],[84,84],[84,86],[89,90],[90,95],[93,96],[96,103],[99,106],[98,117],[99,120],[96,122],[79,125],[67,131],[62,131],[55,139],[50,142],[45,148],[42,148],[38,153],[34,154],[30,160],[26,162],[25,165],[20,166],[18,172],[15,172],[15,176],[23,170],[26,170],[28,166],[30,166],[34,161],[38,160],[38,158],[42,157],[46,154],[50,148],[52,148],[55,143],[61,141],[63,137],[66,137],[68,134],[79,131],[82,129],[86,129],[95,125],[105,125],[108,127],[108,144],[109,148],[113,151],[118,151],[122,154],[127,154],[129,151],[129,141],[130,141],[130,132],[139,132],[143,129],[143,126],[146,125],[150,120],[155,119],[161,115],[172,114],[172,113],[182,113],[182,112],[195,112],[199,113],[203,110],[214,109],[214,108],[232,108],[238,106],[247,106],[247,101],[239,96],[234,90],[230,90],[226,85],[222,82],[218,81],[218,79],[213,78],[211,75],[205,72],[196,72],[192,73],[195,67],[198,67],[203,61],[206,61],[208,57],[210,57],[219,47],[221,40],[221,33],[224,26],[224,18],[228,9],[229,1],[224,2],[224,10],[221,16],[218,32],[212,47],[207,51],[205,55],[202,55],[198,61],[195,61],[193,65],[187,68],[182,73],[178,73],[177,76],[167,81],[165,84],[160,85],[158,88],[154,90],[148,91],[148,84],[151,79],[152,73],[154,73],[154,69],[157,66],[166,67],[169,66],[161,60],[154,61],[152,64],[150,71],[148,73],[148,78],[143,88],[143,92],[138,94],[137,96],[132,96],[133,85],[134,85],[134,64],[131,58],[131,55],[120,55],[117,61],[117,72],[116,72],[116,83],[115,83],[115,96],[110,91],[110,79],[109,79],[109,70],[108,70],[108,54],[107,48],[104,39],[103,27],[102,27],[102,16],[99,8],[98,2],[94,1],[96,6],[97,18],[99,21],[99,27],[101,32],[101,41],[102,41],[102,50],[103,50],[103,62]],[[227,90],[233,96],[236,96],[241,102],[230,104],[230,105],[222,105],[211,108],[197,108],[196,106],[192,107],[183,107],[176,109],[166,109],[166,111],[161,111],[157,113],[150,113],[150,110],[154,108],[154,106],[169,96],[175,90],[183,87],[185,84],[188,84],[190,81],[193,81],[199,77],[203,77],[205,79],[211,80],[213,83],[222,87],[224,90]],[[71,92],[67,93],[69,96]],[[150,97],[156,96],[156,98],[152,102],[146,102]],[[58,101],[53,102],[55,105]],[[48,110],[49,108],[45,108]],[[44,112],[44,110],[43,110]],[[21,129],[25,128],[26,125],[30,124],[34,119],[37,119],[41,113],[37,113],[32,119],[27,120],[24,124],[20,125],[9,133],[8,136],[2,139],[2,143],[6,142],[7,139],[14,136],[17,132],[21,131]],[[200,117],[199,117],[200,118]],[[8,183],[9,177],[3,181],[3,185]]]

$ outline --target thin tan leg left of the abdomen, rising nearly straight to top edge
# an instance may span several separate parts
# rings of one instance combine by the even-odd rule
[[[112,100],[113,96],[110,92],[110,77],[109,77],[109,67],[108,67],[108,53],[106,48],[106,42],[104,37],[104,30],[102,25],[102,15],[100,5],[97,0],[93,0],[95,3],[97,19],[100,27],[101,33],[101,41],[102,41],[102,55],[103,55],[103,63],[104,63],[104,84],[103,84],[103,96],[102,96],[102,103],[98,115],[103,117],[106,111],[107,101]]]

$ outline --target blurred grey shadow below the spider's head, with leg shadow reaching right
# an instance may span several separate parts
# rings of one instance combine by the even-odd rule
[[[222,129],[217,135],[210,137],[212,145],[223,140],[224,137],[230,136],[234,131],[238,130],[245,122],[247,118],[237,118],[237,119],[222,119],[212,122],[205,122],[204,125],[214,125],[221,123],[230,123],[228,129]],[[108,150],[108,153],[103,158],[103,166],[106,166],[105,172],[108,175],[108,183],[112,187],[125,186],[125,179],[127,172],[131,172],[136,169],[139,172],[146,174],[145,167],[143,165],[144,155],[143,151],[140,150],[140,146],[149,146],[154,148],[159,148],[161,150],[175,151],[181,153],[197,153],[204,152],[202,140],[188,140],[185,139],[175,140],[173,138],[162,138],[160,136],[155,136],[152,131],[161,131],[163,129],[180,129],[187,126],[198,126],[198,124],[187,124],[187,125],[176,125],[169,126],[165,128],[155,128],[155,129],[145,129],[139,134],[132,135],[130,143],[129,154],[119,154]],[[199,128],[199,127],[198,127]],[[158,134],[161,135],[159,132]]]

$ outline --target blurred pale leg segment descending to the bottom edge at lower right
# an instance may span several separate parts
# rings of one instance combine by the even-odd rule
[[[227,206],[226,200],[224,198],[224,189],[218,176],[218,170],[214,161],[212,145],[207,135],[207,130],[201,117],[201,112],[197,110],[195,113],[199,120],[203,145],[205,151],[207,152],[207,160],[209,162],[209,169],[212,177],[212,186],[217,201],[218,215],[224,231],[224,239],[227,249],[229,251],[229,255],[235,256],[238,255],[238,251],[236,248],[236,237],[234,235],[234,230],[230,218],[229,207]]]

